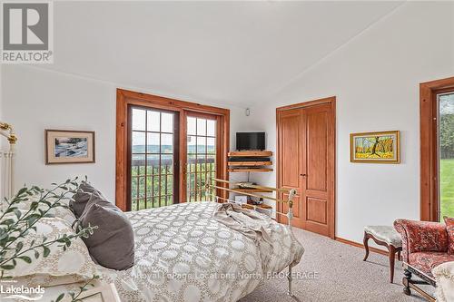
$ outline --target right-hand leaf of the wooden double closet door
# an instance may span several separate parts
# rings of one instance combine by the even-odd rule
[[[331,104],[311,106],[302,110],[302,226],[331,236],[333,200],[331,154]]]

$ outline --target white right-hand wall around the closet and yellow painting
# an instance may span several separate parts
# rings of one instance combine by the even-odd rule
[[[250,127],[276,151],[275,108],[337,97],[336,236],[361,242],[365,225],[419,219],[419,83],[454,76],[454,3],[408,2],[252,107]],[[401,163],[351,163],[351,132],[400,130]],[[258,174],[256,174],[258,175]],[[275,173],[254,180],[274,185]]]

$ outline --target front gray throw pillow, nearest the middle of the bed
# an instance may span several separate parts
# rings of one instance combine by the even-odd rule
[[[83,228],[97,226],[94,234],[84,239],[94,260],[105,268],[123,270],[134,264],[133,226],[123,211],[93,192],[80,217]]]

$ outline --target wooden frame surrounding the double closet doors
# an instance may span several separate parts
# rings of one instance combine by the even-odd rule
[[[331,181],[328,183],[328,190],[330,193],[330,199],[332,200],[330,209],[328,209],[328,219],[331,221],[330,225],[330,238],[335,238],[335,231],[336,231],[336,97],[331,96],[323,99],[313,100],[309,102],[299,102],[296,104],[291,104],[287,106],[282,106],[276,108],[276,183],[277,187],[281,188],[281,158],[280,158],[280,143],[279,143],[279,117],[280,112],[291,110],[291,109],[299,109],[299,108],[307,108],[311,106],[316,106],[324,103],[331,104],[331,124],[329,125],[328,131],[331,134],[331,140],[328,141],[328,162],[327,162],[327,170],[328,174],[331,175]],[[276,205],[277,209],[279,206]],[[278,220],[280,217],[278,216]]]

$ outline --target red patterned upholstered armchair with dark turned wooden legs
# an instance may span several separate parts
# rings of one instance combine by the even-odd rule
[[[448,253],[449,236],[446,225],[438,222],[397,219],[394,221],[394,228],[402,237],[403,292],[410,296],[412,288],[427,300],[435,301],[435,297],[418,285],[429,284],[437,287],[432,268],[454,261],[454,255]],[[418,276],[420,280],[411,279],[412,274]]]

